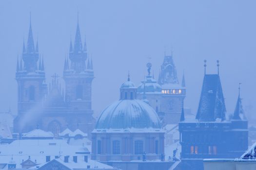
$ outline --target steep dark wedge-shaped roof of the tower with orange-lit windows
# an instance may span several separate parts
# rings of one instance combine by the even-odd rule
[[[205,74],[197,110],[198,121],[225,119],[226,107],[218,74]]]

